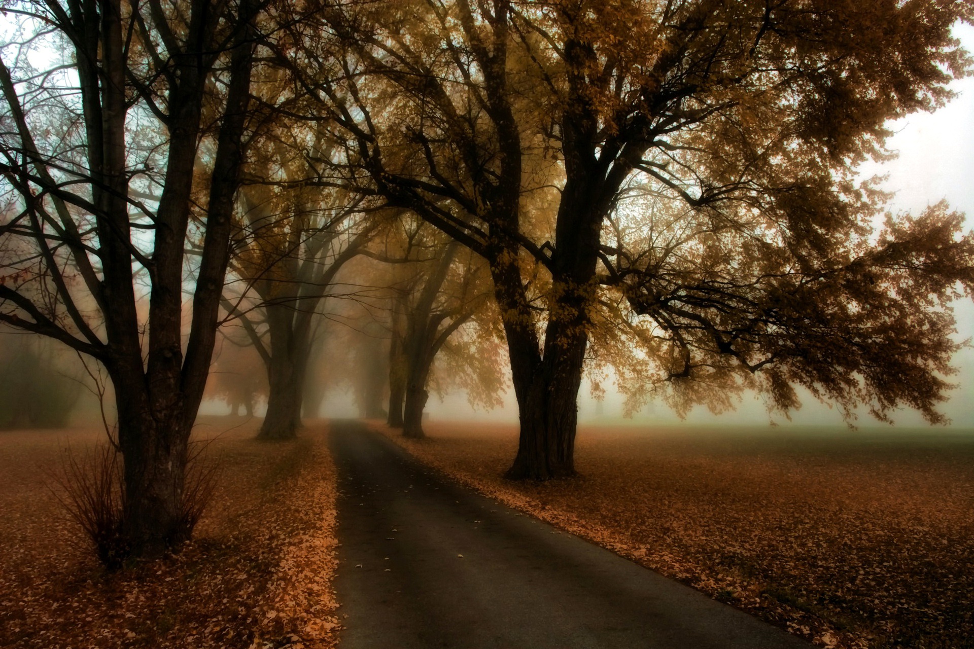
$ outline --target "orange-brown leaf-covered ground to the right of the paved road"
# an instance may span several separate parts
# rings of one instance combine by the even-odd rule
[[[420,459],[820,646],[974,647],[974,436],[582,428],[577,478],[503,479],[512,426]]]

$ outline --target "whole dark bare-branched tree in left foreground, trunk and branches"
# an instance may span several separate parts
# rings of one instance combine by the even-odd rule
[[[179,12],[156,0],[5,7],[64,56],[42,75],[12,48],[12,66],[0,63],[9,125],[0,172],[17,205],[0,226],[0,321],[106,368],[125,464],[123,531],[138,556],[192,531],[187,442],[229,257],[258,9],[249,0],[193,0]],[[185,250],[197,242],[187,332]]]

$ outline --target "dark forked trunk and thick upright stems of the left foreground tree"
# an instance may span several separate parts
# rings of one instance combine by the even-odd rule
[[[131,12],[141,11],[126,7]],[[167,549],[188,539],[195,523],[187,516],[184,480],[190,430],[199,410],[206,385],[213,343],[216,335],[219,296],[229,259],[231,217],[234,194],[239,185],[242,160],[242,135],[250,94],[253,44],[252,29],[247,25],[254,7],[249,0],[239,3],[236,18],[219,16],[206,3],[190,3],[185,21],[187,50],[175,39],[166,63],[170,84],[165,101],[169,142],[166,151],[165,180],[162,196],[153,217],[155,223],[150,268],[148,323],[140,321],[132,285],[133,252],[131,214],[126,199],[129,195],[131,165],[128,161],[126,129],[131,87],[126,86],[131,70],[127,69],[128,41],[119,0],[67,3],[54,12],[50,25],[73,34],[65,43],[73,44],[76,61],[77,90],[86,128],[88,178],[75,176],[89,185],[94,209],[94,234],[98,249],[94,256],[100,267],[99,277],[89,258],[87,235],[83,239],[79,225],[88,231],[88,219],[75,220],[76,213],[67,209],[59,192],[49,192],[61,221],[65,248],[72,250],[80,277],[87,285],[104,325],[104,339],[95,335],[78,311],[71,293],[63,283],[56,262],[50,254],[44,231],[42,257],[47,271],[53,273],[57,298],[71,314],[82,338],[58,330],[48,321],[50,331],[42,332],[90,354],[107,369],[115,388],[118,411],[118,444],[123,455],[124,499],[121,520],[122,536],[131,555],[158,557]],[[134,20],[134,18],[128,18]],[[161,17],[160,25],[169,17]],[[234,28],[233,41],[215,29],[217,21]],[[131,36],[131,31],[128,32]],[[214,40],[214,38],[218,40]],[[133,43],[134,45],[134,43]],[[169,45],[169,43],[167,44]],[[185,291],[185,234],[190,222],[190,204],[194,184],[194,166],[199,153],[201,111],[209,85],[216,48],[233,47],[230,56],[230,79],[226,86],[226,104],[217,135],[216,153],[209,180],[206,202],[206,228],[203,252],[199,256],[197,282],[193,295],[192,324],[188,340],[184,337],[183,301]],[[206,54],[204,54],[206,53]],[[221,63],[221,68],[227,66]],[[0,89],[11,110],[9,116],[18,123],[21,144],[35,158],[38,179],[50,188],[63,188],[51,177],[29,125],[23,119],[19,98],[5,66],[0,64]],[[216,118],[216,115],[210,118]],[[207,125],[213,120],[208,119]],[[208,126],[207,126],[208,127]],[[55,162],[56,167],[56,162]],[[79,190],[81,194],[83,191]],[[32,195],[30,196],[32,197]],[[57,228],[57,227],[56,227]],[[142,247],[145,237],[139,238]],[[24,306],[24,305],[20,305]],[[147,343],[142,340],[148,329]],[[185,349],[183,344],[185,343]]]

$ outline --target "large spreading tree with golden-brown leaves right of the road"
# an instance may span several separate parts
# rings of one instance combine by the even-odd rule
[[[801,384],[847,412],[941,419],[971,240],[943,206],[878,232],[883,197],[855,168],[886,155],[889,120],[942,105],[968,73],[951,37],[968,3],[416,0],[324,16],[333,38],[308,49],[342,74],[304,79],[349,142],[336,172],[490,265],[521,411],[511,476],[572,472],[593,337],[678,405],[751,386],[787,410]]]

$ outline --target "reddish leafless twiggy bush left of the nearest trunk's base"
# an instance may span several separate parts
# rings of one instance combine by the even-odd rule
[[[80,454],[68,449],[55,478],[61,487],[56,491],[58,500],[81,527],[98,560],[109,569],[121,567],[131,551],[122,531],[125,480],[121,453],[109,445]]]

